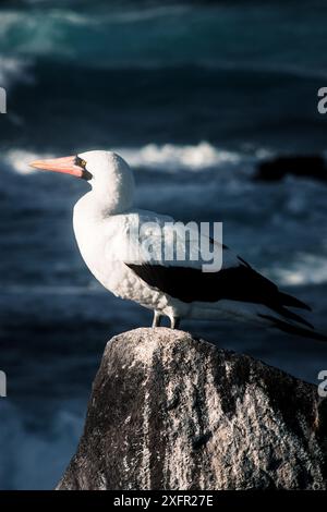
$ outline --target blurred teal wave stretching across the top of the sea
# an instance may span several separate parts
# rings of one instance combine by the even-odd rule
[[[83,9],[76,9],[72,2],[65,5],[49,2],[46,8],[43,2],[35,5],[31,10],[1,11],[0,42],[3,54],[31,59],[60,58],[61,61],[81,62],[98,69],[195,65],[221,72],[280,74],[315,80],[327,77],[326,65],[317,61],[315,53],[308,52],[305,60],[302,53],[299,59],[298,39],[294,39],[288,54],[267,51],[265,60],[252,54],[252,47],[246,46],[247,40],[245,47],[239,48],[234,47],[234,40],[227,38],[222,48],[225,51],[221,51],[217,26],[219,28],[223,20],[226,23],[231,22],[230,15],[235,15],[232,9],[231,12],[217,5],[198,9],[181,2],[136,8],[133,4],[120,4],[112,9],[101,3],[92,8],[85,4]],[[215,19],[217,23],[214,23]],[[263,21],[267,22],[265,16]],[[301,33],[301,21],[293,23],[291,27],[294,33]],[[317,17],[318,31],[319,23]],[[88,34],[87,44],[85,29]],[[123,37],[126,31],[129,37]],[[130,38],[135,41],[133,48]],[[202,45],[194,45],[198,39]],[[323,40],[320,45],[323,48]],[[250,50],[251,59],[246,58]],[[223,54],[225,59],[221,58]]]

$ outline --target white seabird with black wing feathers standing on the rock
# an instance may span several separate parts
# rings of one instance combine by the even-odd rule
[[[225,245],[220,246],[222,267],[215,272],[203,271],[199,252],[184,261],[167,261],[158,251],[155,256],[145,254],[145,246],[158,247],[162,233],[172,234],[173,219],[133,207],[134,176],[119,155],[95,150],[31,164],[88,182],[92,190],[76,203],[73,215],[81,254],[107,290],[154,310],[153,327],[160,325],[162,316],[170,318],[172,328],[181,318],[235,318],[327,341],[293,310],[310,310],[306,304],[279,291]],[[131,233],[137,227],[135,240]],[[211,239],[209,243],[219,244]]]

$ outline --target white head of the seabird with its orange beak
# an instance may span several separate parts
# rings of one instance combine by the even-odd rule
[[[94,200],[108,212],[119,214],[133,205],[134,176],[125,160],[116,153],[86,151],[71,157],[34,161],[31,166],[86,180],[92,186]]]

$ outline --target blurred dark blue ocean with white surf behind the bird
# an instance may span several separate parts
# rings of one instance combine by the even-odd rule
[[[138,206],[223,221],[225,242],[310,303],[327,332],[327,182],[311,168],[324,160],[304,161],[302,178],[255,179],[267,159],[325,159],[326,19],[317,0],[1,2],[1,489],[55,487],[106,341],[152,318],[101,289],[80,256],[72,207],[87,184],[33,172],[36,157],[119,151]],[[314,341],[183,328],[312,382],[327,368]]]

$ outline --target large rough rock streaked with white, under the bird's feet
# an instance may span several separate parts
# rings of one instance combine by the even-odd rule
[[[314,385],[166,328],[106,348],[58,489],[326,489]]]

